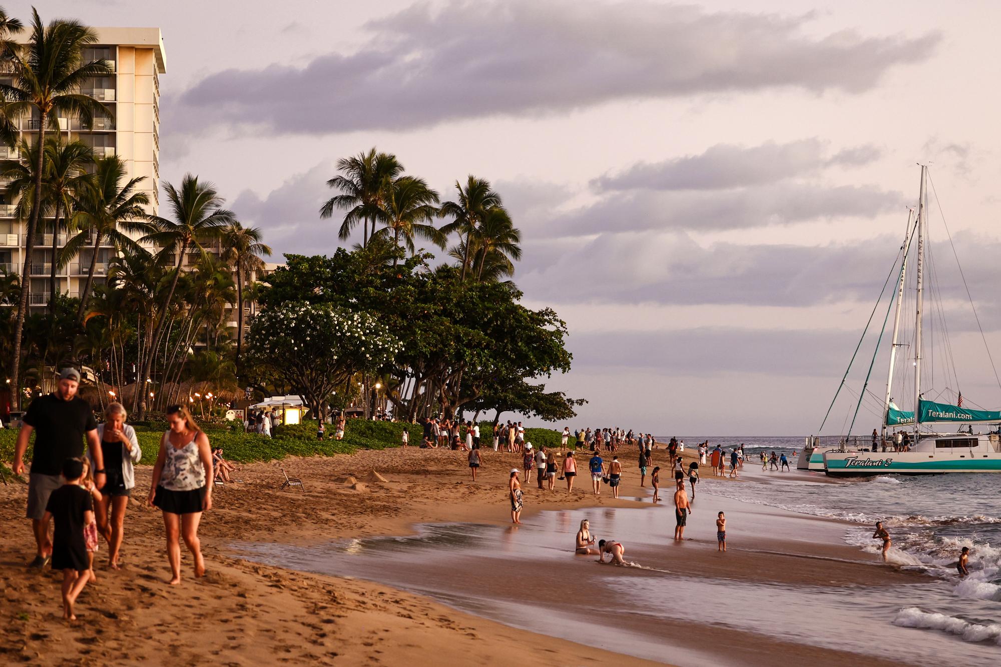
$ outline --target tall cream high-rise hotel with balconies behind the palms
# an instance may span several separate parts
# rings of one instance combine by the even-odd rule
[[[79,118],[59,118],[59,131],[66,139],[79,139],[97,155],[118,155],[128,169],[128,178],[145,176],[138,189],[149,197],[149,213],[156,214],[159,197],[159,77],[166,72],[166,56],[159,28],[94,28],[98,42],[84,53],[84,60],[104,59],[111,74],[88,81],[81,92],[104,104],[109,118],[95,118],[90,126]],[[23,34],[23,33],[22,33]],[[23,38],[23,37],[22,37]],[[0,73],[0,78],[4,75]],[[37,141],[39,119],[20,119],[20,138]],[[54,129],[50,126],[46,136]],[[16,158],[17,148],[0,145],[0,158]],[[16,199],[0,182],[0,268],[20,273],[24,267],[27,221],[14,217]],[[39,224],[31,257],[30,303],[40,306],[49,301],[49,274],[52,267],[52,220]],[[59,233],[58,245],[66,242]],[[79,294],[93,258],[93,242],[81,250],[57,273],[56,288],[71,296]],[[107,275],[108,261],[115,249],[104,245],[97,249],[95,282]]]

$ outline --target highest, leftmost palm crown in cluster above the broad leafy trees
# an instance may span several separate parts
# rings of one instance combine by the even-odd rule
[[[375,220],[381,219],[386,183],[403,172],[403,165],[395,155],[377,153],[372,148],[367,153],[337,160],[337,171],[341,173],[326,181],[326,184],[339,190],[340,194],[326,200],[319,209],[319,216],[326,219],[333,215],[335,208],[346,209],[337,238],[347,240],[351,229],[360,220],[364,222],[361,233],[361,246],[364,247],[368,245],[369,220],[374,232]]]

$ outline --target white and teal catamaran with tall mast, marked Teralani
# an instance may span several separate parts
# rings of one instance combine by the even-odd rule
[[[886,475],[888,473],[903,474],[929,474],[929,473],[1001,473],[1001,435],[999,426],[1001,425],[1001,411],[971,410],[962,406],[962,393],[958,394],[957,405],[949,403],[939,403],[926,400],[922,393],[921,367],[922,367],[922,335],[924,318],[924,296],[926,272],[926,243],[928,233],[927,211],[928,211],[928,167],[921,167],[921,189],[918,202],[917,219],[913,221],[908,218],[907,232],[904,244],[901,247],[900,268],[897,279],[896,296],[892,303],[896,303],[896,314],[893,328],[893,342],[890,349],[890,370],[887,378],[887,388],[885,401],[883,402],[883,428],[882,435],[872,439],[867,437],[852,436],[852,427],[849,427],[847,436],[836,437],[836,442],[830,442],[829,438],[810,437],[807,439],[807,447],[800,456],[798,468],[804,470],[824,471],[833,476],[865,476],[865,475]],[[915,233],[916,232],[916,233]],[[905,300],[905,278],[907,276],[907,258],[912,240],[916,239],[916,290],[915,290],[915,327],[913,338],[913,368],[914,368],[914,405],[917,410],[903,411],[898,409],[891,398],[891,388],[894,381],[895,365],[898,360],[899,350],[908,348],[909,344],[900,341],[901,309]],[[894,270],[896,270],[896,263]],[[893,271],[891,271],[891,274]],[[889,282],[889,278],[887,280]],[[882,295],[881,295],[882,298]],[[972,301],[971,301],[972,304]],[[875,313],[875,309],[873,312]],[[890,308],[887,308],[886,316],[889,317]],[[941,315],[940,316],[944,316]],[[872,321],[872,316],[870,316]],[[886,326],[884,318],[884,328]],[[868,325],[867,325],[868,328]],[[882,341],[882,332],[880,341]],[[863,338],[865,333],[863,333]],[[859,345],[862,345],[860,340]],[[985,340],[986,345],[986,340]],[[878,352],[878,344],[877,344]],[[858,353],[858,348],[856,348]],[[853,362],[855,357],[853,356]],[[873,356],[875,362],[876,356]],[[993,365],[993,362],[992,362]],[[849,365],[851,370],[851,364]],[[872,364],[869,367],[872,372]],[[845,378],[842,379],[841,388],[845,385]],[[869,376],[866,377],[866,386],[869,383]],[[863,387],[859,395],[859,406],[865,398],[866,387]],[[835,400],[837,400],[835,394]],[[832,407],[834,402],[832,402]],[[828,416],[831,410],[828,409]],[[858,406],[855,409],[855,416],[858,416]],[[827,418],[825,418],[825,422]],[[846,420],[847,421],[847,420]],[[939,432],[934,425],[965,425],[959,427],[958,432]],[[852,426],[855,418],[852,419]],[[987,433],[974,434],[973,425],[995,425],[993,429],[987,428]],[[900,430],[903,427],[907,430],[909,445],[901,445],[895,442],[896,434],[887,434],[887,429]],[[823,429],[823,425],[821,427]],[[889,440],[889,447],[887,442]],[[828,441],[825,443],[825,441]]]

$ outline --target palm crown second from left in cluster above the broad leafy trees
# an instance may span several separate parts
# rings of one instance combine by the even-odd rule
[[[423,178],[400,176],[395,178],[385,188],[381,218],[385,226],[372,234],[388,236],[392,233],[392,241],[399,247],[399,237],[403,236],[406,248],[412,253],[413,238],[420,236],[439,247],[444,247],[444,234],[430,224],[437,215],[438,194],[427,186]],[[396,265],[393,257],[392,265]]]

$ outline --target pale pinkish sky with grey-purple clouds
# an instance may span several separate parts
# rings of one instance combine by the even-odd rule
[[[591,401],[578,425],[816,433],[901,243],[916,163],[931,163],[941,352],[926,351],[926,388],[1001,406],[943,224],[1001,364],[998,3],[42,10],[162,29],[161,174],[215,181],[278,251],[333,250],[324,181],[371,146],[445,197],[468,173],[490,179],[524,233],[525,301],[570,325],[574,371],[550,387]],[[885,383],[881,357],[873,397]],[[873,397],[856,432],[876,425]],[[853,410],[839,403],[825,431]]]

